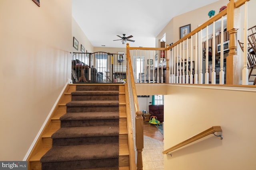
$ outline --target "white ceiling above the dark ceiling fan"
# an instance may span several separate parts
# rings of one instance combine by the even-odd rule
[[[72,0],[72,16],[94,47],[126,47],[116,35],[133,35],[131,47],[155,47],[174,17],[218,0]]]

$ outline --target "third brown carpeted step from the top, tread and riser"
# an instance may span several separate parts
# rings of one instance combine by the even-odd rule
[[[99,111],[119,111],[118,100],[105,101],[71,101],[66,104],[68,112],[99,112]]]

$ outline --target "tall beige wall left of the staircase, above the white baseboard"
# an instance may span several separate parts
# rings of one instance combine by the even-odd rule
[[[0,1],[0,160],[23,160],[67,82],[72,1]]]

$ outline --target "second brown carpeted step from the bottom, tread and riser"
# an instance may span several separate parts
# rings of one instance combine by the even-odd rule
[[[119,126],[64,127],[52,134],[52,146],[118,143]]]

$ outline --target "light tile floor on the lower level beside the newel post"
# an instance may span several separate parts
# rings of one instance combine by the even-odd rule
[[[143,170],[164,170],[164,143],[144,135]]]

